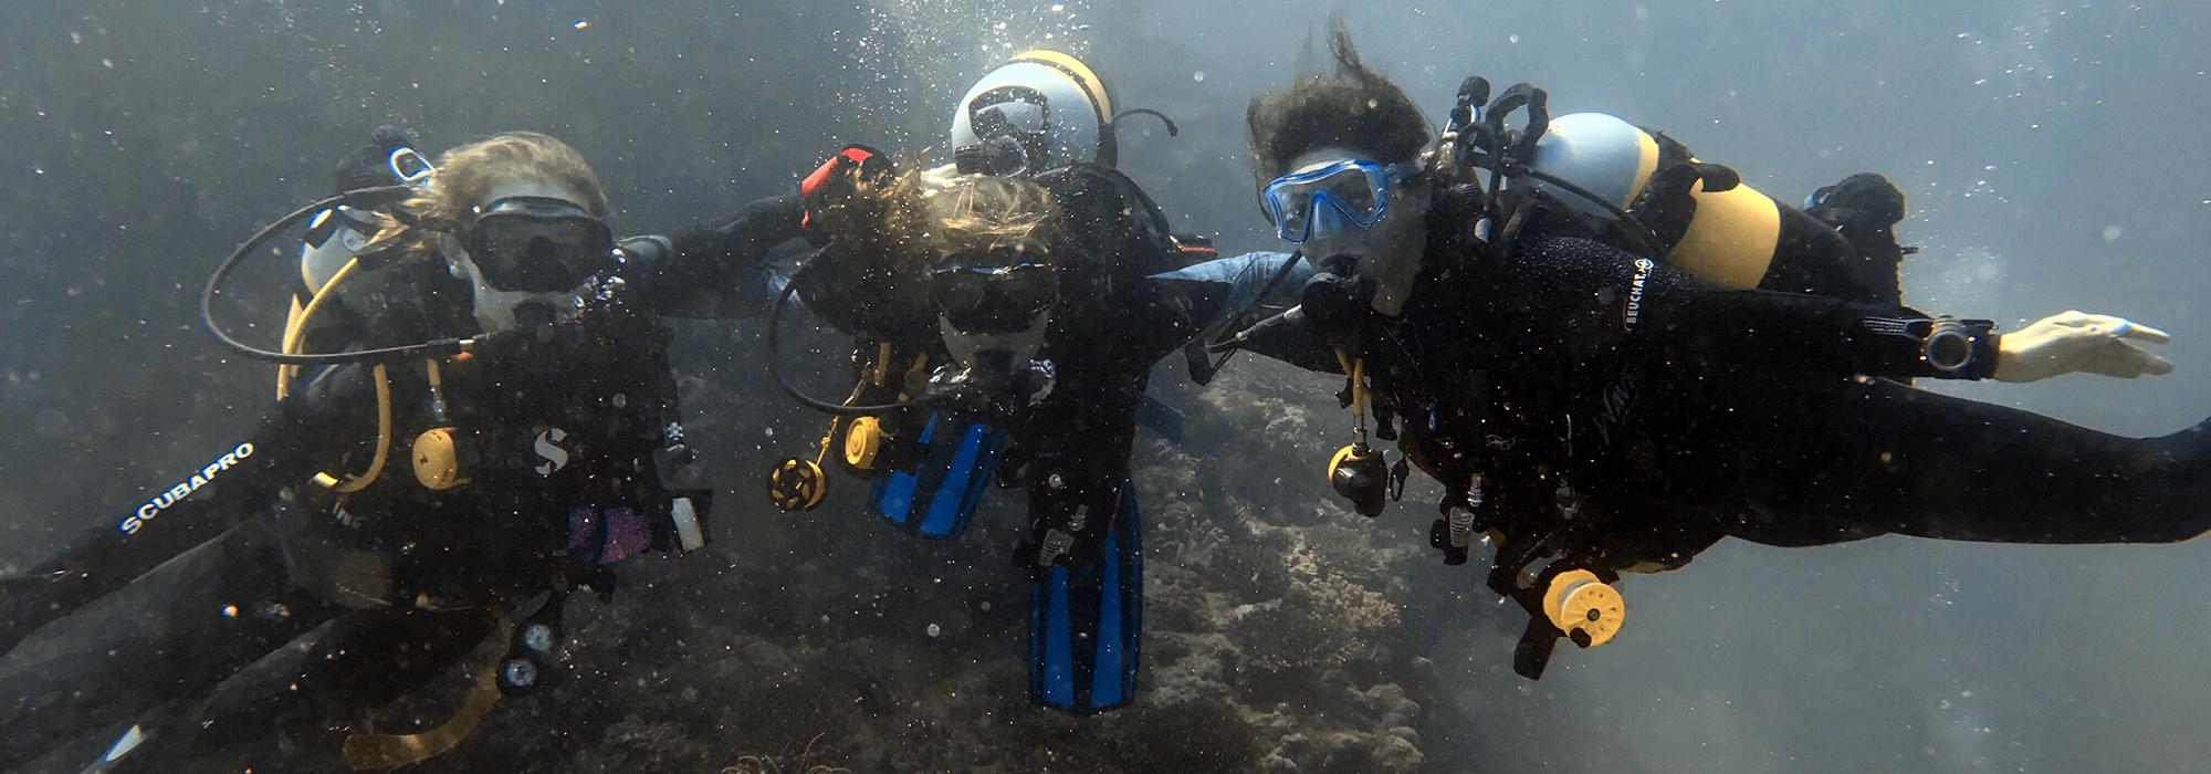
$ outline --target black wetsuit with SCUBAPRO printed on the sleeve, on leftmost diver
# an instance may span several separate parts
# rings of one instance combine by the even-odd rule
[[[745,234],[783,219],[796,219],[796,201],[624,241],[619,279],[597,281],[577,321],[493,336],[467,358],[442,360],[444,422],[429,414],[427,365],[387,363],[391,447],[380,475],[356,493],[310,478],[343,480],[376,458],[369,363],[303,374],[250,444],[206,471],[206,484],[164,493],[137,517],[95,526],[60,557],[0,584],[0,648],[13,648],[153,571],[119,595],[122,606],[93,606],[104,615],[95,644],[42,652],[44,663],[4,677],[0,765],[197,701],[325,621],[334,628],[298,661],[301,672],[274,683],[296,701],[243,697],[164,717],[199,714],[212,723],[199,741],[219,745],[268,734],[276,712],[316,723],[376,708],[464,657],[493,630],[489,610],[573,584],[604,586],[599,559],[639,548],[639,535],[617,535],[615,522],[650,524],[643,537],[668,548],[677,540],[668,533],[672,493],[657,456],[679,436],[670,436],[677,394],[657,318],[758,312],[772,283],[758,265],[765,245]],[[360,345],[475,330],[469,287],[442,259],[376,261],[338,292],[343,307],[369,314],[329,330],[349,330]],[[409,460],[409,442],[438,425],[464,438],[469,478],[444,491],[420,484]],[[703,509],[703,493],[690,495]],[[617,520],[612,511],[628,513]]]

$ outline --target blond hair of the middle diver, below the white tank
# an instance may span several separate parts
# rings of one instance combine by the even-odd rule
[[[1052,195],[1037,181],[909,170],[827,192],[811,217],[829,254],[862,272],[926,272],[955,252],[1046,250]]]

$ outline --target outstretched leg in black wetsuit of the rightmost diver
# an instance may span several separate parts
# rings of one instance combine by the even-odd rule
[[[1747,495],[1742,537],[1789,522],[1840,540],[2032,544],[2178,542],[2211,529],[2211,422],[2125,438],[1873,378],[1758,402],[1716,411],[1702,444],[1731,449],[1720,462],[1731,475],[1718,480]]]

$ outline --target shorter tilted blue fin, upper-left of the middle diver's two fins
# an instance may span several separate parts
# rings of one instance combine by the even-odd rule
[[[926,537],[957,537],[1006,451],[1006,431],[937,414],[922,427],[920,442],[926,453],[913,471],[876,475],[869,509]]]

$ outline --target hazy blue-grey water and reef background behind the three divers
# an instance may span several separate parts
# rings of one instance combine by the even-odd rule
[[[1055,49],[1117,108],[1172,119],[1121,122],[1117,166],[1174,232],[1287,252],[1254,197],[1245,106],[1327,64],[1331,15],[1431,128],[1484,75],[1543,86],[1552,115],[1663,128],[1786,203],[1882,172],[1919,248],[1906,305],[2005,332],[2087,310],[2171,334],[2154,347],[2165,376],[1924,389],[2120,436],[2211,416],[2198,2],[20,2],[0,9],[0,577],[261,425],[274,367],[208,336],[201,287],[327,197],[378,126],[429,157],[557,137],[597,170],[615,237],[663,234],[794,195],[849,144],[953,164],[968,84]],[[283,245],[248,254],[219,303],[272,347],[298,285]],[[772,259],[789,272],[798,250]],[[2211,756],[2202,542],[1722,540],[1621,579],[1618,637],[1561,646],[1523,679],[1528,615],[1484,586],[1490,548],[1444,566],[1428,546],[1444,487],[1413,475],[1380,517],[1353,513],[1324,475],[1353,422],[1344,380],[1254,354],[1207,385],[1181,356],[1154,369],[1150,394],[1181,418],[1130,442],[1136,690],[1108,712],[1039,708],[1030,584],[1010,562],[1024,491],[977,489],[951,540],[884,524],[869,482],[834,469],[820,506],[778,511],[761,475],[811,458],[829,420],[769,378],[763,323],[670,323],[696,453],[681,487],[712,491],[712,544],[610,564],[610,595],[568,599],[566,679],[502,699],[418,770],[2178,772]],[[842,394],[851,341],[814,314],[780,327],[789,376]],[[150,626],[146,595],[24,639],[0,686]],[[380,721],[436,725],[467,692],[449,670]],[[0,694],[18,712],[0,728],[24,705],[71,712],[46,701]],[[80,772],[130,725],[0,761]],[[340,770],[343,739],[263,734],[192,767]]]

